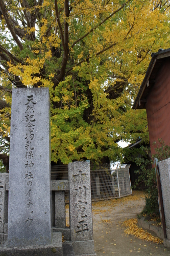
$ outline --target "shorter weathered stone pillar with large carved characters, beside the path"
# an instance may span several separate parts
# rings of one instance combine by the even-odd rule
[[[69,163],[68,178],[71,241],[92,240],[90,163]]]

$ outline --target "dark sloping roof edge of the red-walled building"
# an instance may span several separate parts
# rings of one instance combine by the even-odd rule
[[[165,58],[167,56],[170,56],[170,48],[166,49],[166,50],[160,49],[157,53],[152,53],[151,56],[152,56],[152,59],[150,61],[149,67],[147,69],[147,72],[145,74],[145,77],[144,77],[144,79],[142,81],[142,84],[140,86],[139,92],[138,92],[138,94],[136,96],[135,102],[134,102],[133,107],[132,107],[132,109],[135,109],[135,110],[137,109],[139,100],[141,99],[142,94],[144,92],[144,89],[147,86],[147,82],[148,82],[148,80],[150,78],[150,75],[151,75],[151,73],[153,71],[153,68],[155,66],[156,60],[159,59],[159,58]]]

